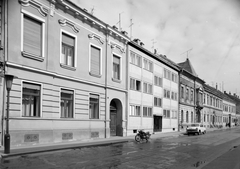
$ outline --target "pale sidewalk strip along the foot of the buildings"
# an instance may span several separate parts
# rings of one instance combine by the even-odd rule
[[[166,132],[166,133],[156,133],[151,135],[151,139],[163,138],[163,137],[178,137],[183,135],[185,131],[180,132]],[[94,139],[89,141],[72,141],[65,143],[52,143],[46,145],[36,145],[36,146],[28,146],[28,147],[11,147],[9,154],[4,154],[4,147],[0,148],[0,158],[8,158],[13,156],[20,156],[26,154],[34,154],[34,153],[43,153],[49,151],[58,151],[58,150],[66,150],[66,149],[74,149],[74,148],[82,148],[82,147],[94,147],[94,146],[105,146],[117,143],[131,142],[135,141],[135,135],[126,136],[126,137],[110,137],[110,138],[101,138]]]

